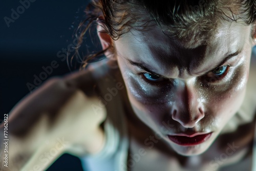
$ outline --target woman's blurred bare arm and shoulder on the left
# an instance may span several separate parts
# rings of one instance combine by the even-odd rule
[[[92,108],[100,105],[94,96],[94,84],[90,71],[53,78],[14,107],[8,119],[11,170],[42,170],[66,151],[79,155],[76,152],[99,150],[103,133],[98,125],[106,111],[99,108],[95,113]],[[100,141],[95,144],[93,139]]]

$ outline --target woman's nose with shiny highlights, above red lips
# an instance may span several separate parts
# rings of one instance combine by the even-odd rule
[[[184,127],[194,127],[204,117],[204,106],[199,100],[199,90],[191,84],[178,88],[172,108],[172,118]]]

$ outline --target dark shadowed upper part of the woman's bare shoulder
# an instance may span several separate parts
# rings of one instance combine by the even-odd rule
[[[9,130],[12,134],[23,136],[42,116],[48,113],[50,119],[56,118],[58,111],[71,99],[80,97],[90,99],[95,96],[94,79],[90,71],[79,71],[66,76],[48,79],[33,93],[21,99],[9,113]],[[79,96],[80,94],[80,96]]]

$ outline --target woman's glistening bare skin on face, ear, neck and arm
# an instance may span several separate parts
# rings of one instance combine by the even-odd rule
[[[209,38],[207,46],[199,40],[186,44],[186,41],[168,39],[157,27],[152,27],[151,31],[143,34],[131,30],[118,40],[113,40],[108,34],[99,32],[103,49],[110,45],[115,47],[117,55],[114,56],[110,51],[106,51],[105,55],[117,60],[120,70],[112,70],[104,66],[100,68],[101,74],[97,75],[94,74],[96,69],[89,68],[65,77],[49,79],[15,105],[8,120],[8,136],[12,139],[9,144],[10,167],[8,168],[32,170],[38,165],[43,169],[66,152],[76,156],[98,153],[105,143],[105,134],[99,125],[107,114],[108,116],[115,114],[115,106],[122,105],[121,100],[125,104],[124,107],[127,107],[125,111],[130,117],[128,127],[132,137],[130,143],[132,153],[138,153],[140,145],[145,146],[144,140],[154,135],[154,132],[159,136],[159,142],[155,143],[154,149],[145,148],[148,150],[147,154],[153,155],[141,158],[140,164],[146,157],[154,156],[158,147],[162,147],[162,151],[158,151],[159,156],[163,157],[164,152],[172,156],[172,160],[165,158],[165,166],[169,165],[170,169],[175,169],[177,166],[175,170],[179,170],[178,168],[183,170],[186,166],[191,170],[189,163],[194,162],[192,157],[189,158],[190,156],[202,154],[200,155],[202,159],[211,161],[225,153],[226,147],[221,151],[218,146],[222,136],[226,139],[225,145],[227,142],[233,142],[231,138],[234,137],[246,141],[243,144],[251,142],[253,131],[248,130],[253,130],[254,125],[252,129],[250,126],[248,126],[250,129],[239,126],[245,122],[253,123],[253,116],[243,120],[243,117],[235,115],[244,100],[248,80],[250,53],[254,45],[250,37],[250,28],[251,26],[241,23],[219,23],[217,32]],[[102,28],[98,26],[98,31],[101,30]],[[160,51],[157,50],[159,48]],[[228,76],[220,81],[208,82],[209,79],[212,81],[216,79],[214,73],[208,73],[207,76],[205,73],[225,56],[237,51],[241,52],[222,64],[222,66],[231,66]],[[147,73],[147,71],[132,65],[127,59],[143,62],[147,68],[168,78],[169,81],[160,78],[158,86],[150,82],[145,83],[143,74],[138,75],[138,73]],[[109,93],[105,88],[111,87],[108,80],[113,79],[116,73],[121,74],[117,74],[116,77],[122,79],[126,87],[120,90],[120,93],[124,93],[121,94],[122,98],[116,96],[119,98],[116,101],[120,103],[113,100],[114,103],[108,103],[106,109],[97,108],[100,110],[95,115],[91,107],[104,106],[100,104],[98,96],[100,92],[102,97]],[[252,74],[252,80],[254,75]],[[95,87],[100,91],[95,92]],[[248,91],[249,95],[255,94],[253,92],[255,86],[251,87],[253,90]],[[167,126],[163,123],[167,123]],[[233,127],[229,127],[230,124]],[[236,128],[239,131],[234,131]],[[0,125],[0,129],[3,136],[4,124]],[[177,145],[167,138],[167,135],[191,132],[212,132],[212,135],[206,142],[189,147]],[[231,138],[227,138],[225,133],[229,133]],[[247,138],[241,135],[246,135]],[[58,148],[58,153],[47,163],[38,160],[38,157],[56,148],[56,138],[62,138],[68,144],[61,149]],[[141,140],[141,144],[135,144],[133,138],[137,141]],[[154,141],[157,142],[156,139]],[[242,149],[242,145],[235,142],[236,145],[241,146],[239,149]],[[240,154],[242,155],[230,156],[229,158],[235,159],[226,163],[239,163],[245,153]],[[186,162],[188,164],[183,164],[185,158],[188,159]],[[177,160],[183,163],[179,165],[181,162]],[[152,164],[155,164],[153,161],[157,162],[157,160],[151,161]],[[209,167],[209,161],[206,161],[206,168]],[[196,163],[196,167],[201,167],[201,163]]]

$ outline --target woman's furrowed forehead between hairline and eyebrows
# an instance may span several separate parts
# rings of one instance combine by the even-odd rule
[[[198,73],[242,50],[249,36],[250,26],[242,23],[219,22],[207,40],[193,35],[185,40],[169,38],[155,26],[143,33],[132,30],[116,40],[115,46],[119,55],[151,65],[163,75],[181,70]]]

